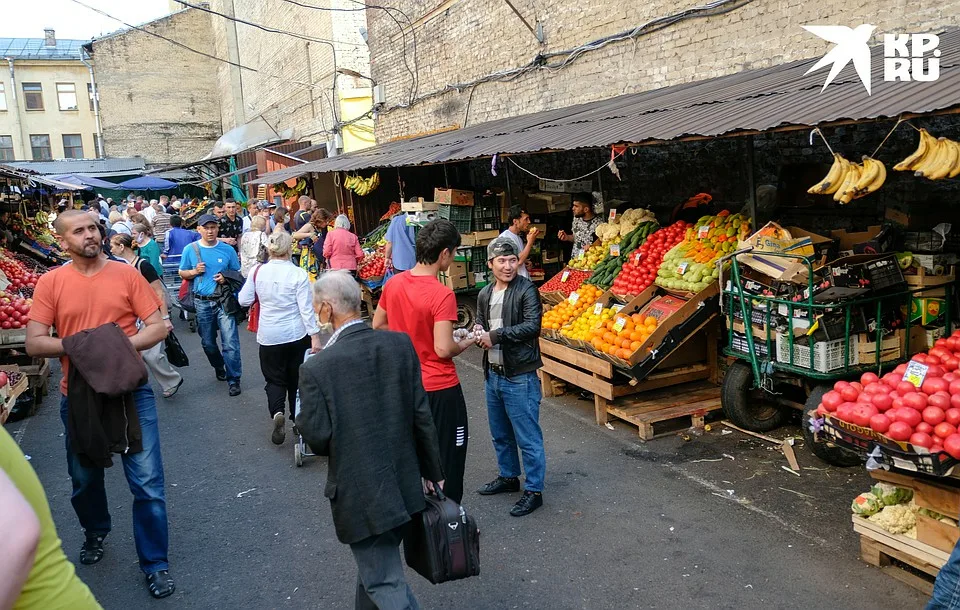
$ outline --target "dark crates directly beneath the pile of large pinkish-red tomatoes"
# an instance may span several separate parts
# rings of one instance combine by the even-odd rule
[[[819,438],[865,453],[878,463],[892,468],[945,477],[952,474],[954,467],[960,464],[960,460],[946,452],[930,453],[923,447],[895,441],[871,428],[857,426],[836,417],[827,415],[822,420],[811,418],[811,421]]]

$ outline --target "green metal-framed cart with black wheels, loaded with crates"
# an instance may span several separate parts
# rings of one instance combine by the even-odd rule
[[[889,371],[910,359],[911,315],[913,299],[934,296],[943,300],[938,320],[943,321],[944,334],[953,328],[956,311],[956,280],[937,286],[910,289],[899,279],[865,288],[824,289],[815,279],[811,258],[764,252],[764,257],[782,258],[784,263],[801,263],[807,285],[799,295],[788,293],[758,294],[747,288],[751,280],[743,275],[737,256],[751,252],[739,250],[724,257],[730,261],[729,282],[720,277],[721,307],[726,318],[727,341],[724,354],[733,358],[722,388],[724,413],[734,423],[762,432],[780,426],[786,418],[784,407],[801,409],[804,437],[813,453],[835,465],[854,465],[861,456],[847,449],[816,442],[808,424],[809,412],[816,409],[833,382],[853,379],[867,371]],[[903,318],[902,326],[891,320]],[[939,321],[937,322],[940,323]],[[807,327],[797,336],[796,326]],[[754,332],[755,327],[760,334]],[[903,330],[899,351],[890,354],[884,336]],[[815,336],[814,336],[815,335]],[[858,338],[866,338],[862,343]],[[914,343],[916,347],[916,343]],[[864,362],[860,362],[860,356]]]

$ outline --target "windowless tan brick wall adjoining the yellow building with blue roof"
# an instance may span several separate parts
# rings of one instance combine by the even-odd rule
[[[213,52],[210,19],[188,9],[145,28]],[[220,137],[216,63],[138,30],[93,43],[104,152],[148,163],[200,159]]]

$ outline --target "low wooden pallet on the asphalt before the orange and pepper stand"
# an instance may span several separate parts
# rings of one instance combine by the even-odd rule
[[[637,426],[645,441],[686,428],[702,428],[703,418],[720,409],[720,388],[692,383],[642,396],[623,398],[608,405],[607,413]]]

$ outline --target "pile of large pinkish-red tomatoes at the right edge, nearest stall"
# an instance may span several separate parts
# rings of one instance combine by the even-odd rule
[[[928,367],[919,388],[904,380],[906,364],[882,378],[864,373],[860,381],[836,382],[817,414],[960,459],[960,330],[911,360]]]

